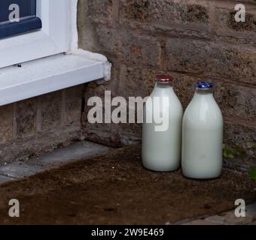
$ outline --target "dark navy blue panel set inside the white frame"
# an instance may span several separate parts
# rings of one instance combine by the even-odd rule
[[[0,1],[0,38],[41,28],[36,0]]]

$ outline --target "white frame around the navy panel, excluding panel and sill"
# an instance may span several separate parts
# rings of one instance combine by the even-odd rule
[[[37,0],[38,31],[0,39],[0,68],[67,52],[71,44],[74,0]]]

